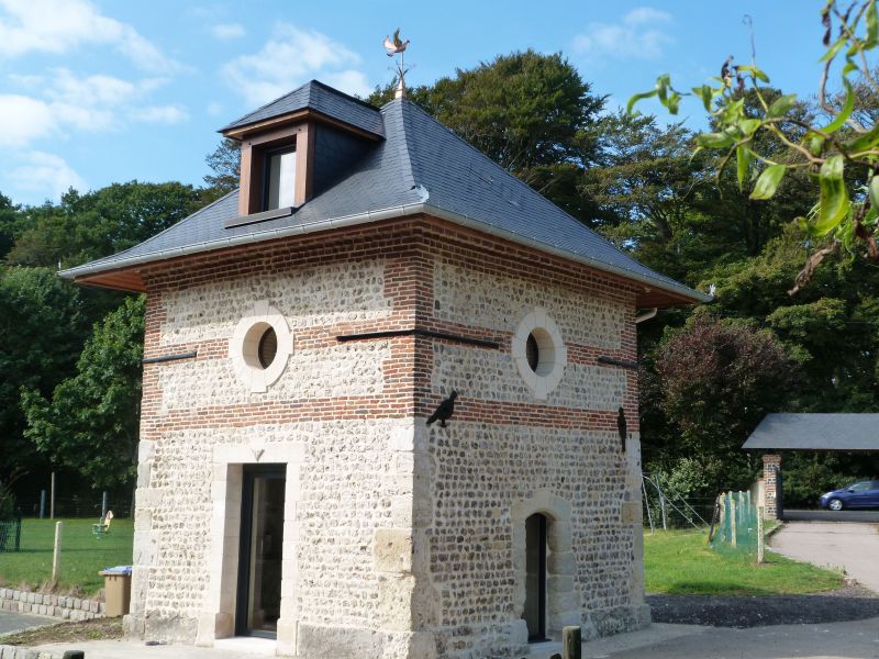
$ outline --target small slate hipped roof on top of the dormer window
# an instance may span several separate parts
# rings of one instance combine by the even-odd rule
[[[385,136],[385,126],[381,121],[381,112],[378,108],[365,103],[354,97],[327,87],[323,82],[312,80],[245,114],[241,119],[233,121],[227,126],[220,130],[221,133],[240,129],[248,124],[265,121],[289,114],[299,110],[315,110],[332,116],[335,120],[347,123],[352,126],[372,133],[380,137]]]

